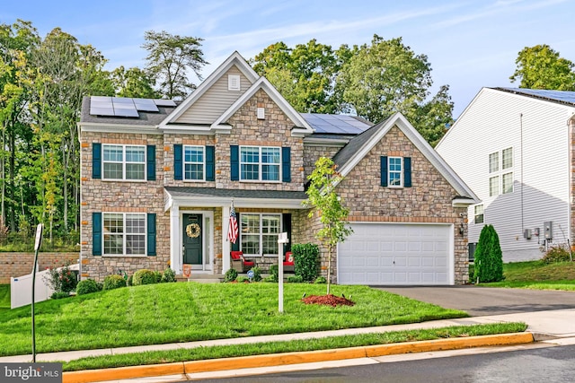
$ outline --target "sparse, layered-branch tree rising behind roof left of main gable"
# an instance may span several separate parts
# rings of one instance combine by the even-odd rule
[[[190,83],[187,71],[191,69],[201,80],[199,69],[208,64],[201,51],[203,39],[172,35],[165,30],[147,30],[142,45],[148,52],[146,70],[155,79],[159,91],[168,99],[183,99],[196,86]]]

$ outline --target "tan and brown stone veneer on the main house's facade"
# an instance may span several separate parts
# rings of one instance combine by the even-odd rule
[[[257,118],[257,109],[265,108],[265,119]],[[118,270],[133,273],[148,268],[162,271],[170,259],[170,217],[164,212],[164,186],[217,187],[249,190],[303,191],[306,176],[314,169],[314,161],[324,155],[332,157],[337,147],[304,146],[302,137],[293,137],[294,123],[279,109],[265,91],[257,91],[251,100],[238,109],[227,121],[229,133],[214,135],[164,135],[110,134],[83,132],[81,135],[82,177],[82,258],[83,277],[102,280]],[[154,144],[156,147],[156,180],[147,182],[105,181],[92,178],[92,144]],[[190,182],[173,179],[173,144],[198,144],[215,146],[215,181]],[[230,180],[230,145],[289,146],[291,148],[291,182],[239,182]],[[380,187],[379,156],[382,154],[411,156],[413,187]],[[403,133],[394,127],[382,142],[367,154],[366,158],[351,170],[338,187],[338,192],[349,206],[350,222],[442,222],[454,223],[454,230],[464,218],[466,209],[453,208],[451,202],[455,190],[438,171],[411,144]],[[215,274],[222,273],[222,237],[226,223],[222,222],[222,209],[180,206],[181,210],[209,210],[214,212],[214,264]],[[308,210],[238,209],[242,212],[268,212],[292,214],[292,243],[318,243],[314,233],[319,229],[317,217],[309,219]],[[155,257],[94,257],[92,255],[93,212],[141,212],[156,213]],[[456,283],[467,281],[466,237],[456,232]],[[226,255],[228,257],[228,255]],[[335,257],[334,257],[335,258]],[[266,270],[275,263],[265,258],[262,268]],[[322,249],[322,269],[325,273],[327,257]],[[336,262],[332,262],[332,281],[335,280]]]

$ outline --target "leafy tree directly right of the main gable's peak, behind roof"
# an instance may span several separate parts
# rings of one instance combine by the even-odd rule
[[[335,77],[342,61],[332,47],[311,39],[288,48],[278,42],[252,60],[253,69],[265,76],[299,112],[335,113],[340,93]]]

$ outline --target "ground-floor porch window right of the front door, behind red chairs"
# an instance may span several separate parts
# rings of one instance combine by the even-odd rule
[[[246,257],[277,256],[281,214],[242,213],[240,215],[241,248]]]

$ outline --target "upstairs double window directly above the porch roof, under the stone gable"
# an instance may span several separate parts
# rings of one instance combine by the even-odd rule
[[[240,179],[243,181],[279,181],[280,148],[242,146]]]

